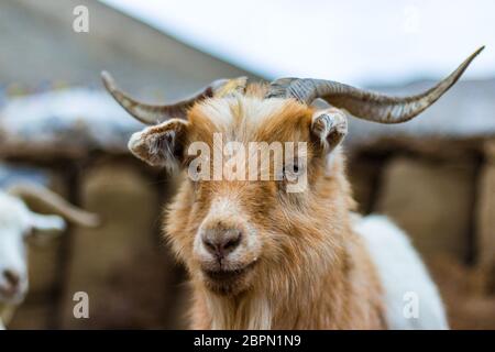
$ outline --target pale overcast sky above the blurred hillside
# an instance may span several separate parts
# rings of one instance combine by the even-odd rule
[[[481,45],[465,77],[495,77],[493,0],[102,1],[267,78],[439,78]]]

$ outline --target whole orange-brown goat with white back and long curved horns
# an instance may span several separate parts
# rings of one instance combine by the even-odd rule
[[[437,101],[481,50],[433,88],[405,98],[323,79],[248,84],[241,77],[152,106],[103,72],[112,97],[151,124],[131,136],[130,151],[188,176],[165,215],[164,232],[190,276],[191,328],[448,328],[437,288],[405,234],[386,218],[354,215],[340,144],[348,113],[408,121]],[[316,107],[317,98],[327,105]],[[266,168],[257,151],[245,153],[253,141],[305,147]],[[237,145],[235,152],[217,142]],[[238,178],[253,160],[270,179],[251,178],[256,173]],[[218,169],[220,177],[211,179]],[[289,191],[302,178],[306,187]],[[404,312],[409,292],[419,297],[417,317]]]

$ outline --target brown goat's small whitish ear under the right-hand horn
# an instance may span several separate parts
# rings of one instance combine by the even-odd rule
[[[336,108],[318,110],[312,116],[311,134],[324,154],[338,146],[348,134],[348,119]]]

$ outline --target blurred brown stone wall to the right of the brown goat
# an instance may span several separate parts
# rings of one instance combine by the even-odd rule
[[[494,141],[383,140],[349,161],[361,212],[406,230],[457,329],[495,329],[494,152]]]

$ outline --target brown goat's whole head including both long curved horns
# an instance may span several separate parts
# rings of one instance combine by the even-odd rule
[[[238,78],[215,81],[173,106],[151,106],[122,92],[107,73],[103,82],[129,113],[152,124],[131,138],[131,152],[188,173],[166,228],[178,257],[196,283],[237,295],[267,286],[260,275],[272,275],[271,283],[279,273],[294,279],[315,260],[319,265],[309,267],[328,270],[328,249],[341,242],[322,233],[345,227],[352,208],[338,147],[346,133],[344,111],[381,123],[413,119],[479,52],[435,88],[406,98],[319,79],[263,86]],[[317,98],[329,106],[314,107]],[[263,147],[266,154],[258,153]],[[263,164],[263,155],[275,162]]]

